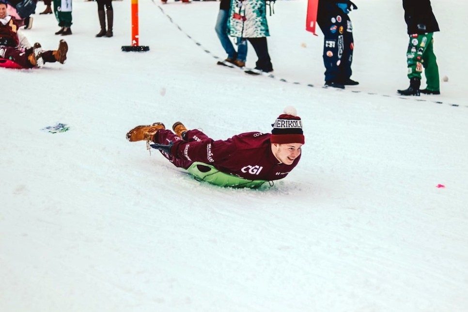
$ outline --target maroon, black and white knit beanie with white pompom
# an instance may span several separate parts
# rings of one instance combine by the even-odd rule
[[[297,116],[297,110],[294,107],[288,106],[285,108],[272,126],[270,142],[304,144],[302,120]]]

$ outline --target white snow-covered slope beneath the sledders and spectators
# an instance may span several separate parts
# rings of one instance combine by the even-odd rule
[[[275,78],[216,65],[219,2],[169,1],[140,0],[148,52],[121,51],[130,0],[112,38],[75,0],[66,64],[0,68],[0,311],[468,311],[468,2],[433,1],[442,94],[401,98],[401,1],[356,1],[344,91],[321,87],[306,1],[268,17]],[[55,48],[54,16],[33,17],[30,41]],[[125,140],[156,121],[268,132],[289,105],[306,144],[271,188],[200,184]]]

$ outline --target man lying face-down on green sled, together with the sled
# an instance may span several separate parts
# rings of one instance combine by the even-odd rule
[[[302,121],[287,107],[270,133],[247,132],[227,140],[213,140],[202,131],[176,122],[139,125],[126,134],[130,142],[146,140],[176,167],[199,181],[223,187],[260,187],[288,175],[299,162],[304,144]],[[149,142],[154,142],[150,144]],[[272,185],[272,183],[270,183]]]

